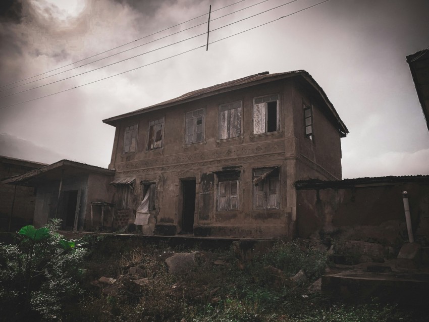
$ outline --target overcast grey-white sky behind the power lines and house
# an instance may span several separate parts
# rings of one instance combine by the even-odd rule
[[[208,12],[210,41],[289,15],[321,0],[285,4],[269,0],[2,1],[0,85],[77,62]],[[289,0],[291,1],[291,0]],[[217,11],[216,11],[217,10]],[[305,69],[325,90],[350,133],[342,139],[343,178],[429,174],[429,131],[406,56],[429,46],[427,0],[330,0],[263,27],[215,42],[116,77],[46,98],[204,45],[206,35],[122,63],[18,91],[115,63],[189,38],[199,27],[153,41],[120,55],[27,85],[105,55],[207,21],[207,15],[90,60],[2,87],[0,154],[37,162],[62,158],[100,167],[110,163],[115,129],[102,119],[134,111],[186,92],[262,71]]]

